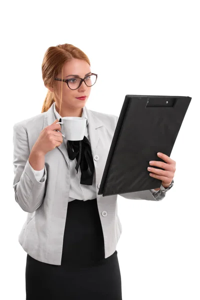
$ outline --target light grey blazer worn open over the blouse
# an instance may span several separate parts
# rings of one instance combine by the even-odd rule
[[[101,221],[105,258],[116,249],[122,228],[117,214],[117,195],[98,195],[98,188],[107,159],[109,147],[118,117],[86,109],[88,133],[94,159],[96,199]],[[45,154],[44,174],[36,180],[28,157],[40,131],[53,123],[53,106],[43,113],[13,125],[13,188],[15,201],[27,212],[27,218],[18,236],[23,249],[33,258],[55,265],[61,264],[62,241],[67,213],[70,176],[66,146],[60,146]],[[161,200],[150,190],[120,194],[128,199]]]

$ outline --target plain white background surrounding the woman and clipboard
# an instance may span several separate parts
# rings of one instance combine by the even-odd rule
[[[41,63],[71,43],[98,74],[89,109],[119,115],[125,94],[191,96],[170,157],[174,186],[161,201],[118,196],[123,300],[199,300],[198,1],[9,1],[1,7],[0,298],[25,299],[26,218],[14,199],[12,128],[41,112]]]

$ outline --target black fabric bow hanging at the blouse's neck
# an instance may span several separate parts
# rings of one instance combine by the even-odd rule
[[[61,119],[59,120],[61,121]],[[84,135],[82,140],[67,140],[66,142],[68,157],[73,160],[76,158],[76,174],[80,165],[81,177],[80,183],[92,185],[94,163],[91,153],[89,140]]]

